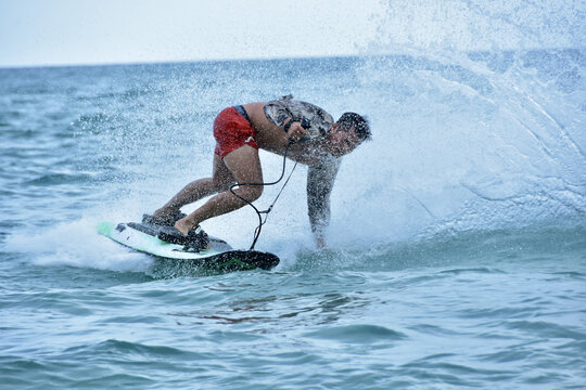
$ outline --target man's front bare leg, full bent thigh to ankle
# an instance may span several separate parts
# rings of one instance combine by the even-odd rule
[[[258,150],[243,145],[224,157],[224,164],[239,183],[262,183],[263,169],[258,158]],[[228,188],[227,188],[228,190]],[[242,186],[234,190],[234,193],[243,198],[253,202],[263,194],[263,186]],[[206,219],[225,214],[237,210],[246,203],[235,197],[230,191],[226,191],[212,197],[202,207],[191,214],[180,219],[175,223],[175,227],[183,235],[187,235],[193,226],[196,226]]]

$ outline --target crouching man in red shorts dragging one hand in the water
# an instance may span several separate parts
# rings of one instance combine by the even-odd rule
[[[186,185],[152,219],[175,225],[183,235],[209,218],[237,210],[246,203],[229,190],[234,183],[263,183],[258,150],[284,155],[309,167],[307,206],[311,231],[319,248],[324,247],[323,230],[330,221],[330,194],[342,156],[371,138],[368,121],[345,113],[337,121],[322,108],[294,100],[292,95],[270,102],[250,103],[224,109],[214,121],[214,169],[211,178]],[[233,190],[249,202],[256,200],[263,185],[241,185]],[[189,216],[184,205],[214,195]]]

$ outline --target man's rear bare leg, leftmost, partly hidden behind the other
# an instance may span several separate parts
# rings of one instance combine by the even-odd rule
[[[195,180],[186,185],[165,206],[154,212],[155,218],[165,219],[176,213],[186,205],[203,197],[226,191],[234,183],[234,178],[217,154],[214,154],[214,172],[212,178]]]

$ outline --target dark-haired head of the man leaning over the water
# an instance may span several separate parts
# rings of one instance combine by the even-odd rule
[[[364,141],[370,140],[368,120],[356,113],[344,113],[332,126],[329,134],[331,153],[341,157],[354,151]]]

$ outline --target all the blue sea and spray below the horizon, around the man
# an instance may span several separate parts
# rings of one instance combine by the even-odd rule
[[[0,69],[0,388],[584,389],[585,66],[578,48]],[[371,120],[328,250],[304,167],[256,245],[270,272],[95,233],[209,174],[224,107],[286,93]],[[247,248],[255,225],[204,229]]]

